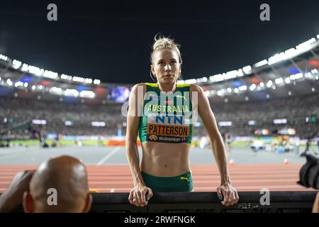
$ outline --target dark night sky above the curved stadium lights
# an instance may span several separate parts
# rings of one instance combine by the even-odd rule
[[[11,2],[11,3],[10,3]],[[319,34],[319,1],[1,1],[0,53],[102,82],[150,82],[157,33],[181,44],[184,79],[253,65]],[[47,5],[57,4],[57,21]],[[270,5],[271,21],[259,6]]]

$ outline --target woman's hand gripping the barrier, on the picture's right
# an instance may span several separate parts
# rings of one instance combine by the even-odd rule
[[[220,184],[217,188],[217,195],[220,199],[224,198],[221,203],[225,206],[237,204],[239,199],[237,190],[230,183]]]

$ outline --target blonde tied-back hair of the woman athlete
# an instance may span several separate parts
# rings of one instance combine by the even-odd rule
[[[158,35],[158,38],[157,38],[157,35],[155,35],[154,43],[152,46],[152,53],[150,57],[151,64],[154,65],[153,55],[155,51],[169,49],[169,50],[175,50],[177,52],[177,55],[179,55],[179,64],[181,65],[182,63],[181,52],[179,51],[179,48],[181,45],[179,45],[178,43],[175,43],[173,39],[165,37],[164,35]],[[152,76],[152,72],[151,72],[151,77],[154,80],[154,76]],[[179,74],[179,77],[177,79],[181,79],[181,74]]]

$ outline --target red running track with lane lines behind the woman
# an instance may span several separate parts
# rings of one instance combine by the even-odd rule
[[[230,177],[238,192],[309,191],[296,184],[303,164],[232,165]],[[0,165],[0,193],[9,187],[18,171],[34,170],[36,165]],[[129,192],[133,187],[127,165],[89,165],[89,187],[98,192]],[[212,192],[220,182],[216,165],[192,165],[195,192]]]

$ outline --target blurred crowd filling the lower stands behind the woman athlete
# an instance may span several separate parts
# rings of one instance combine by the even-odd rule
[[[43,119],[47,121],[46,125],[32,124],[32,128],[41,134],[117,135],[118,128],[121,128],[122,135],[125,135],[126,117],[121,114],[122,104],[67,104],[0,97],[0,105],[0,131],[33,119]],[[319,131],[319,94],[258,102],[211,102],[211,107],[216,121],[232,121],[230,127],[219,126],[221,133],[230,132],[232,135],[245,136],[254,135],[255,130],[267,128],[272,134],[285,126],[274,125],[273,120],[278,118],[287,118],[286,128],[295,128],[296,135],[301,137]],[[315,122],[311,122],[311,116],[315,116]],[[14,119],[13,123],[9,122],[10,118]],[[73,125],[65,126],[65,121],[72,121]],[[91,126],[92,121],[103,121],[106,126]],[[249,126],[249,121],[255,121],[255,125]],[[11,136],[23,136],[28,129],[23,130],[11,131]],[[194,135],[201,136],[201,133],[203,125],[195,128]]]

